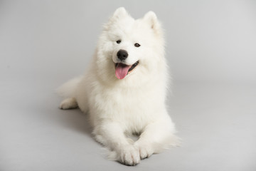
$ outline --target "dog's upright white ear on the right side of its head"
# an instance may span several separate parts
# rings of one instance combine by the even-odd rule
[[[149,24],[150,28],[153,29],[155,33],[161,33],[161,24],[159,23],[156,14],[153,11],[147,12],[143,19],[147,24]]]

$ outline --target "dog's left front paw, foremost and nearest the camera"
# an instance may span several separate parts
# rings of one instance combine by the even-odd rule
[[[124,165],[138,165],[140,162],[139,150],[133,145],[127,145],[122,147],[117,152],[119,162],[122,162]]]

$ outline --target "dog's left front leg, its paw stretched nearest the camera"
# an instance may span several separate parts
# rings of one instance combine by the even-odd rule
[[[103,143],[112,152],[112,160],[122,162],[124,165],[139,164],[139,150],[132,145],[124,135],[122,125],[112,121],[105,121],[94,130],[97,141]]]

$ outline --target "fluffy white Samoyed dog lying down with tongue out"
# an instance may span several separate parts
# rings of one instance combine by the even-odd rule
[[[109,157],[137,165],[178,142],[165,104],[167,71],[156,14],[135,20],[121,7],[105,24],[85,75],[58,89],[65,97],[60,108],[89,113],[92,135]]]

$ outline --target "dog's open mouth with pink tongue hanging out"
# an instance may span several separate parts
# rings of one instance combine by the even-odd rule
[[[117,78],[123,79],[130,72],[132,72],[138,64],[139,64],[139,61],[137,61],[136,63],[134,63],[131,66],[127,66],[124,63],[115,63],[115,74],[116,74]]]

